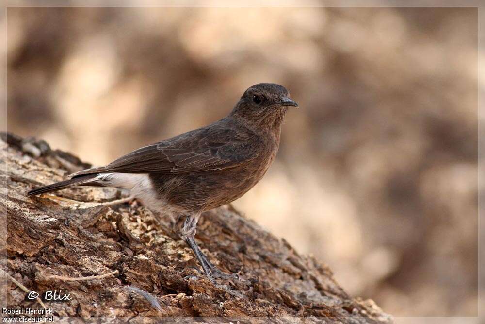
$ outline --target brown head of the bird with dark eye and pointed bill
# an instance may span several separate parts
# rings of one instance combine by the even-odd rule
[[[231,115],[248,125],[279,127],[288,107],[298,107],[288,90],[274,83],[259,83],[248,88]]]

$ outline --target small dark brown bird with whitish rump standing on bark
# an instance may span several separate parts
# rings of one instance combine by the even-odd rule
[[[253,188],[275,160],[288,107],[288,90],[259,83],[242,94],[224,118],[132,151],[113,162],[75,172],[28,196],[72,186],[129,189],[154,213],[174,217],[174,230],[193,250],[204,273],[223,275],[195,242],[202,212],[229,204]]]

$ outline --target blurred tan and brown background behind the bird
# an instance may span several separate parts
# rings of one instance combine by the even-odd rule
[[[235,202],[395,316],[477,314],[474,8],[9,8],[8,130],[106,164],[225,116],[291,110]]]

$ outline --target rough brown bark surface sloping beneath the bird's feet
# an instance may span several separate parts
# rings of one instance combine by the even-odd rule
[[[70,293],[70,301],[46,301],[60,320],[101,317],[102,322],[114,322],[123,317],[150,323],[170,316],[179,322],[187,317],[200,322],[221,322],[213,317],[226,322],[266,322],[268,317],[278,322],[392,322],[372,300],[350,297],[327,266],[299,255],[230,205],[204,213],[196,239],[211,262],[225,273],[239,273],[241,280],[212,283],[199,273],[192,251],[171,231],[168,218],[159,224],[143,206],[97,204],[121,198],[115,188],[57,193],[89,202],[81,205],[26,197],[29,189],[59,181],[88,164],[50,150],[43,141],[2,134],[0,146],[1,163],[8,166],[7,174],[1,174],[7,192],[0,204],[8,211],[4,270],[29,290]],[[94,280],[48,278],[114,270],[118,273]],[[9,308],[38,307],[25,295],[9,281]]]

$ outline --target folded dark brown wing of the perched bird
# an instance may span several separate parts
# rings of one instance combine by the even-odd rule
[[[221,170],[254,159],[258,139],[231,127],[206,127],[142,147],[108,164],[121,173],[191,173]]]

